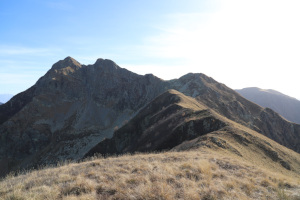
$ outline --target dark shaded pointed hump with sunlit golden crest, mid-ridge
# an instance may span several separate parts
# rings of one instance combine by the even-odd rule
[[[86,156],[169,150],[224,126],[206,106],[176,90],[168,90]]]

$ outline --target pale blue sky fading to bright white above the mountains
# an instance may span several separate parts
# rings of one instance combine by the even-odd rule
[[[0,94],[24,91],[71,56],[300,99],[299,10],[299,0],[1,0]]]

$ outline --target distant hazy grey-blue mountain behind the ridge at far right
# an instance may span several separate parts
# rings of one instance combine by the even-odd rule
[[[254,103],[278,112],[289,121],[300,124],[300,101],[275,90],[257,87],[236,90],[243,97]]]

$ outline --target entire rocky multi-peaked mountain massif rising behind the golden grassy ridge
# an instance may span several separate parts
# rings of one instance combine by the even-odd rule
[[[300,151],[299,125],[204,74],[164,81],[151,74],[137,75],[111,60],[81,65],[67,57],[0,106],[0,171],[81,159],[168,89]]]

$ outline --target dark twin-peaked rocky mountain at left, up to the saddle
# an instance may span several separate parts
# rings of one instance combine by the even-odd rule
[[[0,168],[80,159],[164,90],[161,79],[113,61],[85,66],[67,57],[0,106]]]

